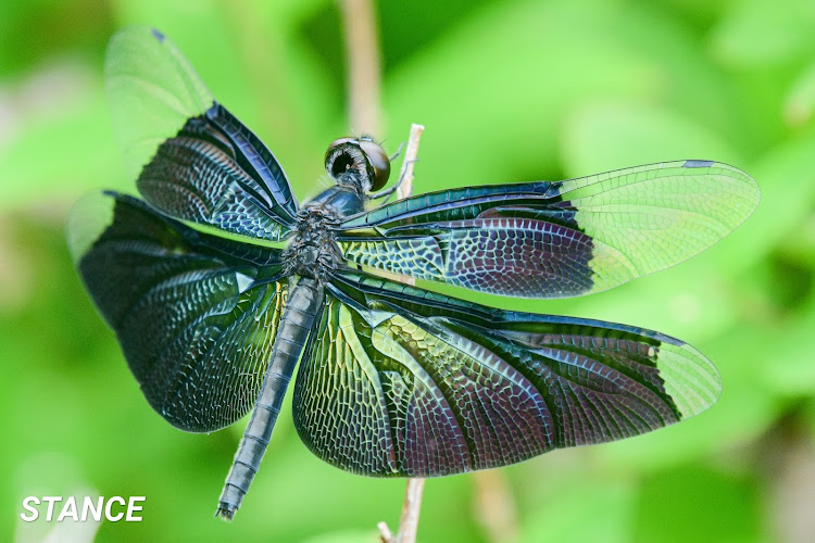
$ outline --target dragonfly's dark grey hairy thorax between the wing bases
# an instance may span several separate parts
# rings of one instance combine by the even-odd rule
[[[284,266],[299,276],[325,281],[342,261],[334,235],[334,227],[339,224],[331,206],[306,204],[298,213],[296,235],[281,255]]]

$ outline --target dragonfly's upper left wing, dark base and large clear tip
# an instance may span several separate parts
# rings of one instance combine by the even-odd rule
[[[148,202],[250,239],[287,236],[298,203],[283,168],[168,38],[148,27],[116,33],[104,71],[114,130]]]

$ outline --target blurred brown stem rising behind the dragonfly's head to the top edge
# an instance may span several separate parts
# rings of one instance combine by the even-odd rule
[[[348,62],[348,109],[359,135],[381,134],[380,62],[376,16],[371,0],[341,0]]]

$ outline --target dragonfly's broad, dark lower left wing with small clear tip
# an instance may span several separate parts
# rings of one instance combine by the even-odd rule
[[[72,211],[68,247],[150,405],[181,430],[254,404],[288,282],[279,251],[210,236],[113,192]]]

